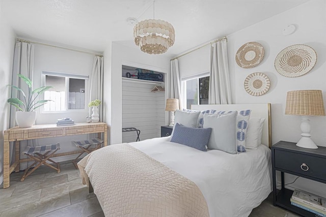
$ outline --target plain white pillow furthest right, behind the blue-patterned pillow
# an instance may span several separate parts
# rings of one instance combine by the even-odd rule
[[[261,144],[264,121],[265,118],[261,117],[250,118],[246,135],[246,148],[257,149]]]

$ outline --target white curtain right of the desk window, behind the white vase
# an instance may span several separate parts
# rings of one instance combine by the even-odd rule
[[[95,56],[93,63],[93,70],[90,80],[90,99],[100,100],[102,103],[99,105],[98,113],[100,115],[100,121],[103,121],[103,57]],[[91,108],[89,114],[92,114]]]

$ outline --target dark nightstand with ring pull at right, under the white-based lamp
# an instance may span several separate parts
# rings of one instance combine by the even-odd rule
[[[271,147],[273,166],[273,204],[281,206],[303,216],[316,214],[291,205],[293,191],[284,188],[284,173],[326,183],[326,147],[318,149],[302,148],[293,142],[280,141]],[[282,189],[277,193],[276,171],[281,171]]]

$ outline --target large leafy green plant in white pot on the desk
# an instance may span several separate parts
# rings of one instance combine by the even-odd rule
[[[26,95],[21,88],[14,85],[9,85],[21,92],[23,96],[23,101],[19,100],[18,98],[9,98],[7,102],[10,105],[13,105],[17,109],[19,109],[19,111],[16,111],[16,122],[18,127],[28,128],[28,127],[32,127],[33,123],[36,120],[36,111],[34,110],[44,105],[48,101],[52,101],[52,100],[36,101],[37,97],[40,94],[42,94],[44,91],[52,88],[52,86],[42,86],[33,90],[32,81],[28,77],[25,77],[21,74],[18,74],[18,77],[21,78],[28,85],[29,87],[28,93]]]

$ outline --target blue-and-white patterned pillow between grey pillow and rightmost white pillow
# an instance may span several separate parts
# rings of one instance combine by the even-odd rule
[[[246,152],[246,133],[251,115],[251,110],[238,112],[236,118],[236,147],[238,152]]]

